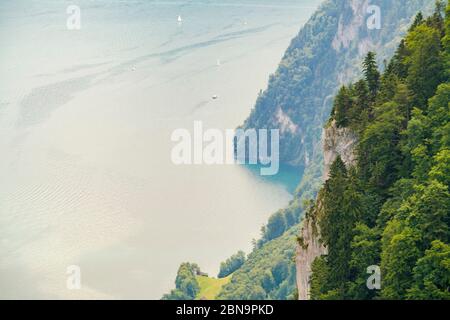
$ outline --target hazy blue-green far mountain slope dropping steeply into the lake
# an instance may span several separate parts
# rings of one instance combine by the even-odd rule
[[[359,74],[359,61],[369,50],[380,62],[390,57],[411,17],[433,3],[326,0],[292,40],[243,127],[280,129],[284,163],[307,166],[316,153],[320,158],[318,142],[336,90]],[[369,5],[380,8],[380,29],[367,26]]]

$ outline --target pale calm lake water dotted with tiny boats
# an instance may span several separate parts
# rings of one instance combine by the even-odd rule
[[[170,135],[240,125],[319,2],[2,1],[0,298],[158,299],[250,250],[299,173],[175,166]]]

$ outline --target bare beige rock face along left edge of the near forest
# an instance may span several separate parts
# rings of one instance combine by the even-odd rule
[[[328,179],[330,166],[341,156],[347,167],[356,164],[355,147],[357,136],[348,128],[338,128],[336,122],[330,123],[323,131],[324,181]],[[296,269],[299,300],[309,299],[311,264],[314,259],[327,254],[327,249],[320,241],[318,219],[321,216],[322,204],[319,193],[315,209],[305,216],[300,233],[301,244],[297,246]]]

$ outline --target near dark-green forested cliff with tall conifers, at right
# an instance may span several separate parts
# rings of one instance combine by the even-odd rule
[[[417,14],[384,72],[370,52],[364,77],[334,99],[325,130],[351,131],[357,143],[350,148],[354,160],[335,152],[306,215],[297,253],[301,299],[450,299],[445,6],[437,2],[428,18]],[[313,237],[305,237],[313,228]],[[312,255],[309,246],[317,243],[322,250]],[[367,286],[368,268],[379,268],[375,288]]]

